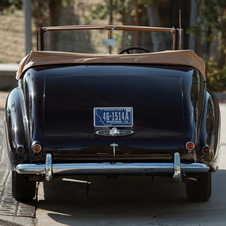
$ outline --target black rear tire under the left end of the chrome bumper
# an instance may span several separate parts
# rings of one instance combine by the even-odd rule
[[[12,196],[20,202],[31,201],[35,196],[36,181],[29,181],[26,175],[12,171]]]

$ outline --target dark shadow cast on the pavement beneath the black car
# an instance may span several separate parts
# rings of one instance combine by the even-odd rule
[[[185,225],[226,221],[225,170],[213,174],[212,198],[192,203],[185,184],[151,177],[90,176],[87,185],[68,181],[45,182],[44,200],[38,203],[52,221],[76,225]],[[83,178],[84,180],[85,178]]]

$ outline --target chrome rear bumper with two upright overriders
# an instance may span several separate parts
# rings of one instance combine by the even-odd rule
[[[174,163],[52,163],[52,155],[46,155],[45,164],[19,164],[16,171],[19,174],[45,174],[51,181],[54,174],[165,174],[172,173],[179,180],[181,173],[207,173],[209,166],[202,163],[181,163],[180,154],[174,153]]]

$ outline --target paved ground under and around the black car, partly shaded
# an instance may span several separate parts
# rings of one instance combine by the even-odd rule
[[[10,197],[10,175],[1,155],[0,225],[226,225],[226,103],[221,103],[220,108],[222,161],[218,172],[213,174],[212,197],[207,203],[189,202],[183,183],[152,181],[151,177],[92,176],[75,178],[88,180],[92,182],[90,185],[74,181],[40,183],[37,200],[21,206]],[[2,117],[0,106],[0,141]],[[3,211],[5,206],[11,215]],[[17,224],[6,224],[3,220]]]

